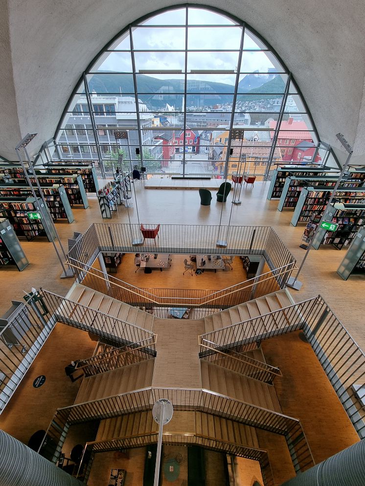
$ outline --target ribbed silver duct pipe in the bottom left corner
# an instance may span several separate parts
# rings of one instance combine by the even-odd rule
[[[83,483],[0,430],[1,486],[81,486]]]

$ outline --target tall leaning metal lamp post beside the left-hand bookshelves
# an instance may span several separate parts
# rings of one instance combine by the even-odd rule
[[[60,240],[60,237],[57,233],[57,230],[56,230],[56,227],[54,226],[54,223],[52,221],[52,217],[49,215],[49,221],[50,221],[50,226],[48,225],[48,222],[47,222],[47,219],[46,219],[46,214],[45,214],[45,211],[47,211],[47,204],[46,204],[46,200],[45,200],[45,197],[43,195],[43,192],[42,192],[42,189],[41,189],[41,186],[39,184],[39,181],[38,181],[38,177],[37,177],[37,174],[35,173],[35,170],[34,170],[34,167],[33,167],[33,164],[30,160],[30,157],[29,157],[29,154],[27,152],[27,149],[26,149],[26,146],[33,140],[33,138],[37,135],[37,133],[31,133],[31,134],[27,134],[25,135],[25,137],[23,138],[23,140],[21,142],[19,142],[19,144],[15,147],[15,151],[17,153],[17,156],[18,156],[18,159],[19,159],[19,162],[22,166],[22,169],[23,169],[23,172],[24,172],[24,175],[25,175],[25,178],[26,178],[26,181],[30,187],[30,190],[32,191],[32,194],[33,194],[33,197],[35,198],[36,201],[38,201],[38,196],[36,194],[36,191],[34,190],[34,187],[33,187],[33,184],[32,182],[30,181],[30,178],[29,178],[29,175],[28,175],[28,172],[26,171],[25,169],[25,166],[24,166],[24,162],[23,162],[23,159],[22,159],[22,156],[20,154],[20,150],[21,148],[23,148],[24,150],[24,153],[25,153],[25,156],[28,160],[28,165],[29,165],[29,169],[30,171],[32,172],[32,175],[35,179],[35,182],[37,184],[37,188],[38,188],[38,191],[39,191],[39,194],[40,194],[40,197],[43,201],[43,204],[44,206],[42,207],[42,205],[38,205],[39,206],[39,212],[41,213],[41,221],[42,221],[42,224],[46,226],[46,229],[48,230],[48,233],[51,234],[52,232],[54,232],[55,236],[56,236],[56,239],[58,241],[58,244],[61,248],[61,252],[62,254],[64,255],[65,257],[65,260],[67,261],[67,256],[66,256],[66,253],[65,253],[65,250],[62,246],[62,243],[61,243],[61,240]],[[62,274],[61,274],[61,278],[69,278],[69,277],[72,277],[74,274],[73,274],[73,270],[72,268],[67,264],[67,268],[61,258],[61,255],[54,243],[54,240],[52,238],[52,241],[51,241],[52,245],[53,245],[53,248],[54,248],[54,251],[56,252],[56,255],[60,261],[60,264],[61,264],[61,267],[62,267]]]

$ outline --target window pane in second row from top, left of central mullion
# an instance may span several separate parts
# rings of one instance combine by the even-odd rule
[[[137,50],[185,49],[185,27],[134,27],[132,35]]]

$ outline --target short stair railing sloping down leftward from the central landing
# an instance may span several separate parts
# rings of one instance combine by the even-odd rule
[[[156,357],[156,339],[153,337],[134,344],[137,347],[121,346],[78,361],[76,368],[89,377]]]

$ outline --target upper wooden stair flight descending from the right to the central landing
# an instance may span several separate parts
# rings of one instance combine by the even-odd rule
[[[205,333],[263,316],[293,304],[295,304],[294,299],[287,289],[279,290],[205,317]]]

